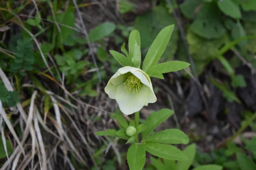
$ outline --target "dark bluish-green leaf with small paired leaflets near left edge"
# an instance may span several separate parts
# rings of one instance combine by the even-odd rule
[[[17,40],[15,59],[12,60],[10,71],[22,74],[23,70],[32,71],[35,57],[33,54],[33,45],[28,38]]]

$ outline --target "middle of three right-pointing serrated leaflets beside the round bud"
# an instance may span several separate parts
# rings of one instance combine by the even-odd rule
[[[167,129],[144,139],[143,142],[158,142],[165,144],[188,144],[189,137],[184,132],[178,129]]]

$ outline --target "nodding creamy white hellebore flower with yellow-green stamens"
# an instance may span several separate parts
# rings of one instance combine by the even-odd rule
[[[105,92],[109,98],[116,99],[120,110],[126,115],[157,101],[148,74],[130,66],[119,68],[108,81]]]

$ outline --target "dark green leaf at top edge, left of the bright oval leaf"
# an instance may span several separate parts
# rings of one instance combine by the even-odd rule
[[[197,8],[201,5],[201,3],[202,0],[185,0],[180,4],[180,11],[185,17],[192,19],[195,17]]]

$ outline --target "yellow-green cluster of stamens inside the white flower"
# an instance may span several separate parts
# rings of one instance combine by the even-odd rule
[[[138,92],[140,90],[141,86],[143,85],[142,82],[140,82],[140,79],[138,79],[136,76],[131,74],[131,72],[126,74],[126,81],[124,83],[126,91],[130,92],[131,90],[133,93]]]

